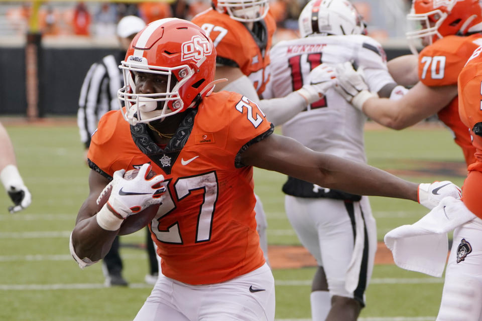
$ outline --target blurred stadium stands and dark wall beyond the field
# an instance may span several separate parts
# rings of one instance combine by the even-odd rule
[[[408,0],[353,1],[388,59],[409,53],[404,33]],[[306,0],[272,0],[275,42],[296,37]],[[174,2],[0,1],[0,115],[74,115],[79,88],[90,65],[117,48],[115,24],[134,14],[150,22],[190,19],[210,0]]]

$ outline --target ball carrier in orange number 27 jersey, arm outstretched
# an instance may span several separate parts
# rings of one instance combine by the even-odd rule
[[[256,232],[254,166],[421,204],[458,195],[453,184],[434,195],[274,134],[249,98],[212,92],[215,61],[216,49],[198,26],[174,18],[149,24],[121,65],[126,86],[118,95],[126,107],[107,112],[92,135],[90,192],[70,237],[79,266],[105,255],[126,217],[160,204],[150,228],[162,275],[136,321],[274,320],[274,279]],[[137,165],[137,177],[125,180]],[[147,180],[151,168],[157,175]],[[97,211],[96,199],[107,190]]]

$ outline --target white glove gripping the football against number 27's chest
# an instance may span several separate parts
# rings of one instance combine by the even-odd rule
[[[101,228],[116,231],[128,216],[162,202],[162,195],[166,192],[166,188],[161,185],[164,176],[159,174],[147,180],[146,176],[150,171],[151,165],[144,164],[132,180],[124,179],[125,170],[114,172],[112,181],[97,199],[98,204],[103,195],[111,190],[109,199],[96,214],[97,223]]]

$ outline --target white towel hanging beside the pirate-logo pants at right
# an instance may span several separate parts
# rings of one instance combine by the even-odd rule
[[[462,201],[448,196],[418,222],[388,232],[385,244],[397,266],[440,277],[447,261],[447,232],[475,217]]]

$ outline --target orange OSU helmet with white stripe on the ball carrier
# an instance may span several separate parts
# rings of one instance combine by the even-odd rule
[[[119,68],[124,87],[117,96],[126,106],[124,118],[132,125],[147,123],[195,107],[212,91],[216,49],[200,27],[166,18],[150,23],[136,35]],[[166,91],[136,92],[134,72],[164,75]]]

